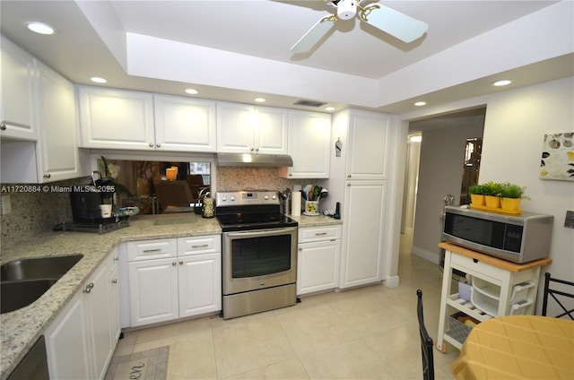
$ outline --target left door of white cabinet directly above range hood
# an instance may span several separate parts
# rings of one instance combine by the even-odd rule
[[[255,152],[254,108],[248,104],[217,103],[217,151]]]

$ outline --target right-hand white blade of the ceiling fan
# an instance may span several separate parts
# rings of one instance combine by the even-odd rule
[[[420,38],[429,29],[426,22],[380,4],[365,6],[361,12],[361,20],[406,43]]]

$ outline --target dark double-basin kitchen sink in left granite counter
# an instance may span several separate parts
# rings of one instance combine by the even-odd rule
[[[0,266],[0,311],[27,307],[68,272],[83,255],[16,260]]]

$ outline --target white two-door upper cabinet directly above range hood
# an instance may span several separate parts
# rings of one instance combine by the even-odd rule
[[[287,117],[283,108],[217,103],[217,151],[287,153]]]

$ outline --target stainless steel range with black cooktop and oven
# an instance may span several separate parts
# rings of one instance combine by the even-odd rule
[[[297,222],[274,191],[219,192],[223,319],[297,302]]]

